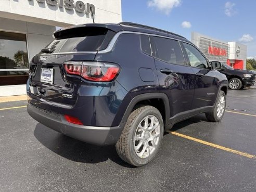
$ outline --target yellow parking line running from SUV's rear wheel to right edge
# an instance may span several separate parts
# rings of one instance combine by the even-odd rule
[[[240,156],[244,156],[244,157],[247,157],[247,158],[250,158],[250,159],[256,159],[256,156],[250,155],[246,152],[241,152],[241,151],[237,151],[237,150],[230,149],[230,148],[227,148],[227,147],[223,147],[223,146],[220,146],[220,145],[216,145],[216,144],[213,144],[213,143],[209,143],[209,142],[206,142],[204,140],[200,140],[200,139],[197,139],[197,138],[194,138],[194,137],[183,135],[181,133],[171,132],[171,131],[167,131],[167,132],[170,133],[170,134],[179,136],[179,137],[189,139],[189,140],[194,140],[195,142],[198,142],[198,143],[201,143],[201,144],[204,144],[204,145],[209,145],[209,146],[214,147],[214,148],[218,148],[218,149],[222,149],[224,151],[232,152],[232,153],[235,153],[235,154],[240,155]]]

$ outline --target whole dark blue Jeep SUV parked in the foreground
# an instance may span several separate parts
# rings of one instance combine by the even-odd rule
[[[115,144],[139,167],[173,124],[224,115],[226,76],[181,35],[122,22],[76,25],[54,37],[31,60],[28,83],[28,113],[53,130]]]

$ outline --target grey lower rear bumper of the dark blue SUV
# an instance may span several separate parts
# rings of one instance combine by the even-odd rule
[[[36,121],[57,132],[94,145],[117,143],[125,123],[114,127],[85,126],[69,123],[62,114],[28,104],[28,113]]]

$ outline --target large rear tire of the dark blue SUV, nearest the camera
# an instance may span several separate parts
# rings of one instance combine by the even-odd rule
[[[142,125],[143,122],[145,123],[144,119],[146,117],[152,117],[152,116],[153,116],[153,121],[154,121],[153,125],[156,125],[155,124],[156,119],[154,119],[154,118],[157,118],[159,125],[160,125],[160,127],[157,126],[157,128],[155,129],[155,133],[158,130],[158,133],[156,133],[157,135],[159,135],[159,138],[157,138],[158,143],[157,143],[156,147],[151,146],[151,149],[153,149],[153,152],[151,154],[149,153],[148,157],[140,158],[135,151],[135,144],[136,144],[136,142],[138,142],[138,140],[135,140],[134,137],[135,137],[135,134],[138,133],[139,124]],[[148,122],[150,122],[150,124],[151,124],[151,119],[148,119]],[[145,127],[146,127],[146,125],[145,125]],[[149,128],[147,128],[147,129],[149,129]],[[141,130],[141,131],[143,132],[143,130]],[[116,150],[117,150],[118,156],[125,162],[132,164],[135,167],[141,167],[141,166],[147,164],[157,155],[157,152],[162,143],[163,132],[164,132],[163,119],[162,119],[161,113],[155,107],[142,106],[142,107],[137,108],[130,114],[130,116],[124,126],[124,130],[116,144]],[[143,142],[146,139],[151,138],[151,136],[153,134],[154,134],[153,132],[147,133],[147,134],[146,134],[146,132],[144,132],[143,135],[145,135],[145,136],[143,136],[143,139],[139,140],[139,142]],[[146,135],[147,135],[147,138],[146,138]],[[156,136],[156,137],[158,137],[158,136]],[[147,141],[147,143],[150,144],[150,141]],[[153,142],[153,143],[155,144],[155,142]],[[144,147],[144,144],[142,144],[142,145]],[[148,152],[148,151],[150,151],[150,149],[147,148],[146,151]]]

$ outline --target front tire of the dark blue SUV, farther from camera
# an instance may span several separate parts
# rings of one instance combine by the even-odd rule
[[[217,107],[218,107],[218,104],[219,104],[219,100],[220,100],[220,98],[222,96],[224,97],[224,101],[225,101],[225,103],[224,103],[224,111],[223,111],[222,115],[220,117],[218,117],[218,115],[217,115]],[[211,121],[211,122],[219,122],[219,121],[221,121],[223,116],[224,116],[225,109],[226,109],[226,94],[223,91],[220,91],[220,93],[219,93],[219,95],[218,95],[218,97],[216,99],[216,103],[214,105],[213,110],[206,113],[207,120]]]

